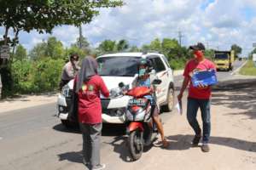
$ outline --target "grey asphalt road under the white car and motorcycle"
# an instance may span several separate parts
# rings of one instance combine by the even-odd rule
[[[235,68],[242,65],[237,61]],[[232,77],[232,71],[218,72],[218,80]],[[182,76],[175,77],[176,86],[182,83]],[[177,88],[178,90],[178,88]],[[177,94],[178,92],[176,92]],[[172,113],[162,114],[164,122]],[[0,115],[0,169],[84,169],[81,164],[81,134],[78,129],[67,130],[55,116],[54,104],[40,105]],[[102,157],[108,159],[109,150],[115,153],[108,159],[108,167],[116,161],[128,159],[126,148],[118,147],[125,142],[124,127],[103,127]],[[123,144],[125,145],[125,144]],[[77,162],[77,164],[73,164]]]

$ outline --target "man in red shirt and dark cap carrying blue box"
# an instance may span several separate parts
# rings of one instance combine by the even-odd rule
[[[185,66],[185,70],[183,72],[183,85],[180,90],[180,94],[177,96],[177,99],[180,101],[183,98],[183,92],[189,85],[187,119],[190,126],[195,131],[195,138],[193,139],[192,143],[194,145],[198,145],[201,139],[201,127],[196,120],[197,111],[200,108],[203,122],[203,139],[201,150],[208,152],[210,150],[208,142],[211,132],[210,105],[212,88],[210,86],[203,85],[200,85],[199,87],[193,87],[191,77],[194,71],[206,71],[209,69],[216,70],[216,67],[212,61],[205,58],[205,46],[201,42],[198,42],[197,45],[190,46],[189,48],[193,50],[195,58],[190,59]]]

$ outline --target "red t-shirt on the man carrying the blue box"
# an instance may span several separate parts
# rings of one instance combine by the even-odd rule
[[[208,69],[216,70],[216,66],[209,59],[204,59],[201,62],[197,62],[195,59],[190,59],[187,63],[183,76],[189,78],[189,98],[194,99],[210,99],[212,94],[212,88],[195,88],[192,85],[190,73],[196,70],[205,71]]]

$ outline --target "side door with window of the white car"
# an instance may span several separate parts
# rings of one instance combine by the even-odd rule
[[[166,94],[168,93],[168,71],[160,56],[150,56],[149,59],[152,61],[156,77],[162,81],[160,85],[158,85],[156,92],[158,102],[161,105],[166,101]]]

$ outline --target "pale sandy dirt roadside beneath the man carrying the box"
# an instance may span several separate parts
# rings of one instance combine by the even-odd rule
[[[175,113],[164,125],[166,136],[171,142],[167,150],[153,147],[143,153],[143,159],[134,162],[132,166],[123,162],[117,167],[141,170],[254,170],[255,85],[256,79],[240,79],[221,82],[214,88],[209,153],[203,153],[200,147],[191,147],[194,134],[186,120],[186,114],[180,116]],[[201,121],[200,117],[199,112],[198,118]]]

